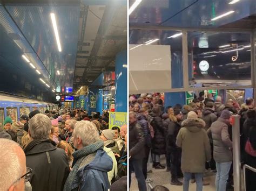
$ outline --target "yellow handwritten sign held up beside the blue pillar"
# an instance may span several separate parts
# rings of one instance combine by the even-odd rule
[[[109,129],[112,129],[113,126],[120,128],[123,125],[127,125],[127,112],[109,113]]]

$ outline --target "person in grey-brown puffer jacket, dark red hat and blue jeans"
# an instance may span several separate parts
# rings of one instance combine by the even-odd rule
[[[217,121],[213,122],[207,131],[213,139],[213,158],[216,162],[216,190],[226,190],[228,172],[232,164],[232,141],[228,133],[231,112],[223,110]]]

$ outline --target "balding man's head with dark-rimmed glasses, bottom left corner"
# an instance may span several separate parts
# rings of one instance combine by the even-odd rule
[[[0,190],[23,191],[32,169],[26,168],[26,158],[22,148],[12,140],[0,139],[0,158]]]

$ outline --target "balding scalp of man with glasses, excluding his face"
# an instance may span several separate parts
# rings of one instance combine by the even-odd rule
[[[19,145],[12,140],[0,139],[1,190],[8,190],[22,176],[22,165],[17,155],[17,147]]]

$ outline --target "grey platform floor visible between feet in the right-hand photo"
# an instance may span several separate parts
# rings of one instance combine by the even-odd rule
[[[166,162],[165,162],[165,158],[164,156],[161,157],[160,159],[160,163],[164,166],[166,166]],[[152,167],[152,163],[150,163],[150,166]],[[174,186],[171,185],[171,173],[170,172],[166,172],[166,168],[165,169],[154,169],[151,168],[151,170],[153,171],[152,173],[148,173],[147,175],[153,179],[152,182],[147,183],[148,186],[148,190],[150,190],[150,188],[153,188],[154,186],[157,185],[163,185],[165,187],[167,187],[169,190],[175,190],[175,191],[182,191],[183,190],[183,186]],[[183,179],[179,179],[181,182],[183,181]],[[204,191],[215,191],[215,173],[205,173],[204,175],[204,180],[209,182],[210,185],[208,186],[204,186],[203,190]],[[138,183],[137,183],[137,179],[135,177],[135,174],[132,173],[132,182],[131,182],[131,187],[130,187],[131,191],[138,191]],[[190,182],[190,191],[196,191],[196,183],[191,183]]]

